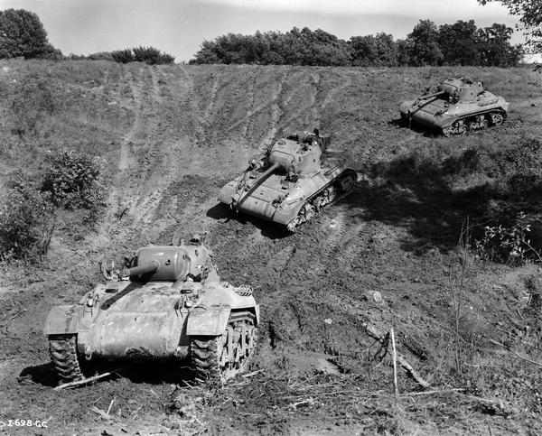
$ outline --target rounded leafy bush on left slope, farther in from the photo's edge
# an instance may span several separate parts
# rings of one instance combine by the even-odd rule
[[[51,168],[45,172],[42,190],[54,205],[64,209],[98,212],[106,202],[99,164],[81,153],[61,150],[49,156]]]

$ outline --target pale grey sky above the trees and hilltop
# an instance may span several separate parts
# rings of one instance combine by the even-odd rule
[[[420,19],[473,19],[478,27],[518,22],[499,3],[476,0],[0,0],[0,10],[8,8],[38,14],[49,41],[64,54],[151,45],[176,61],[190,60],[201,42],[229,32],[306,26],[346,40],[377,32],[398,39]],[[522,42],[520,32],[512,42]]]

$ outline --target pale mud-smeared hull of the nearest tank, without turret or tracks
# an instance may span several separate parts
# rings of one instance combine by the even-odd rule
[[[240,295],[238,288],[228,283],[193,283],[192,292],[197,293],[197,298],[187,296],[173,283],[119,284],[114,293],[107,290],[107,285],[98,285],[79,304],[63,310],[67,319],[61,322],[58,308],[53,308],[45,335],[76,335],[78,352],[87,360],[182,358],[188,354],[191,334],[220,335],[220,329],[226,328],[213,325],[205,329],[194,322],[191,326],[193,310],[198,309],[200,314],[201,308],[220,307],[226,314],[244,310],[259,319],[254,297]],[[59,325],[66,328],[59,329]]]

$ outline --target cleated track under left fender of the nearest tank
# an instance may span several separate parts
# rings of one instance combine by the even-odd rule
[[[85,378],[77,357],[75,335],[54,335],[49,337],[49,354],[52,366],[61,383],[70,383]]]

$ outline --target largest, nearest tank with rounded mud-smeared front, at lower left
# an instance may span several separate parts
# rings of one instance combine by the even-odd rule
[[[103,361],[188,361],[197,378],[220,382],[248,366],[259,324],[252,288],[220,281],[197,238],[139,248],[106,276],[77,304],[49,312],[44,334],[61,382]]]

